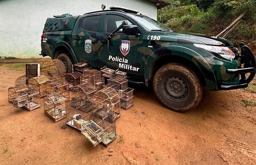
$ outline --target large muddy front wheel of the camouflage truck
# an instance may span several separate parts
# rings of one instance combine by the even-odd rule
[[[202,85],[195,72],[178,63],[169,63],[158,69],[153,88],[165,107],[178,112],[195,108],[203,96]]]

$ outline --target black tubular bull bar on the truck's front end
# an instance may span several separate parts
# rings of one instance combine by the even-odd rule
[[[237,85],[222,85],[220,86],[220,90],[232,90],[232,89],[240,89],[248,87],[248,84],[253,80],[256,73],[256,60],[255,55],[251,52],[251,49],[243,43],[239,44],[241,47],[241,64],[237,69],[227,69],[227,74],[240,74],[241,79]],[[246,74],[250,75],[246,78]]]

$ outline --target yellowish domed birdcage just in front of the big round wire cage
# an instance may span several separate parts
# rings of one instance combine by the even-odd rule
[[[42,98],[45,96],[44,83],[49,80],[50,79],[45,75],[30,78],[29,79],[29,88],[36,88],[40,92],[40,97]]]

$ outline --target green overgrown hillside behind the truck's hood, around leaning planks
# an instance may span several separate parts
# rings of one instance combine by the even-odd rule
[[[235,45],[256,40],[256,0],[163,0],[171,5],[158,10],[158,21],[173,31],[216,36],[243,12],[246,15],[228,36]]]

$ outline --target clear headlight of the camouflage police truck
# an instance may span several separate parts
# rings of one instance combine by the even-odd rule
[[[194,44],[194,46],[203,48],[213,54],[214,56],[221,58],[223,60],[232,61],[235,58],[234,52],[228,47],[222,46],[211,46],[211,45],[204,45],[204,44]]]

